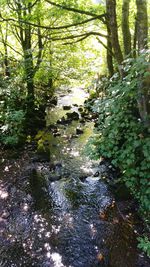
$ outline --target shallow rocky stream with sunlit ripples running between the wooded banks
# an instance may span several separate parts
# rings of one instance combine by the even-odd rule
[[[74,88],[57,96],[30,165],[11,186],[0,184],[0,266],[136,267],[132,227],[118,219],[106,168],[83,153],[94,125],[81,117],[88,95]],[[73,112],[79,118],[67,120]]]

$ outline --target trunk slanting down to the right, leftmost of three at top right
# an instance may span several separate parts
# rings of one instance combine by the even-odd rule
[[[121,64],[123,61],[123,55],[121,52],[119,38],[118,38],[118,26],[117,26],[117,19],[116,19],[116,0],[106,0],[106,12],[107,12],[107,23],[110,28],[110,38],[111,44],[114,51],[115,59],[118,63],[118,68],[120,74],[122,76],[122,68]]]

